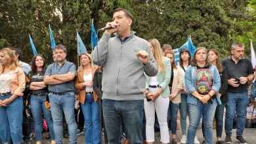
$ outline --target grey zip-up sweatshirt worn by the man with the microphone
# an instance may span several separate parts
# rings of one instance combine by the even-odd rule
[[[138,50],[145,50],[150,56],[150,63],[143,65],[137,58]],[[104,99],[140,100],[144,98],[146,78],[144,72],[153,77],[158,73],[158,65],[154,60],[148,41],[135,35],[110,38],[104,33],[98,42],[97,50],[93,50],[93,62],[104,63],[102,75],[102,91]]]

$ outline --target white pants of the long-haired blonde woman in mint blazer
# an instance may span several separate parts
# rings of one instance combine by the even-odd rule
[[[149,92],[154,94],[158,88],[150,88]],[[154,123],[155,111],[160,125],[161,143],[169,143],[169,130],[167,124],[167,111],[169,107],[169,98],[163,98],[161,95],[155,101],[146,101],[144,98],[144,110],[146,115],[146,141],[154,142]]]

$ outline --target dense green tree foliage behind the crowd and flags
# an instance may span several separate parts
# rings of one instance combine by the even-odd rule
[[[247,56],[249,39],[256,45],[256,0],[5,0],[0,2],[0,48],[20,47],[30,62],[30,34],[37,52],[51,63],[51,24],[56,44],[65,45],[68,60],[77,63],[75,30],[91,50],[92,20],[96,29],[104,27],[118,7],[132,12],[139,37],[156,38],[161,45],[179,48],[191,35],[194,45],[217,48],[222,57],[234,41],[245,44]]]

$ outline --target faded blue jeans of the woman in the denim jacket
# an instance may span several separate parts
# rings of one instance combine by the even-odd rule
[[[197,100],[197,105],[188,103],[188,139],[186,143],[194,143],[194,137],[196,136],[196,130],[200,124],[200,118],[203,116],[203,132],[205,135],[206,143],[213,143],[213,117],[215,109],[217,107],[217,100],[214,98],[213,104],[203,104]]]

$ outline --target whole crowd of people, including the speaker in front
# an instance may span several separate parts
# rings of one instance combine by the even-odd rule
[[[106,24],[112,29],[106,29],[92,55],[81,54],[78,68],[66,60],[67,50],[63,45],[56,45],[54,63],[48,66],[41,54],[33,56],[30,66],[20,61],[18,49],[2,48],[0,141],[18,144],[23,137],[28,143],[31,129],[28,115],[32,115],[37,144],[42,143],[43,118],[51,144],[63,143],[64,121],[70,143],[77,143],[78,102],[87,144],[101,143],[101,132],[105,143],[121,143],[124,131],[125,143],[154,143],[156,119],[161,143],[200,143],[196,132],[202,119],[202,143],[210,144],[213,118],[216,143],[232,143],[230,121],[234,117],[236,140],[247,143],[242,136],[245,120],[256,119],[256,109],[255,101],[249,102],[247,94],[254,70],[250,60],[244,58],[244,45],[233,43],[230,56],[222,61],[216,49],[198,47],[191,56],[183,48],[180,64],[176,65],[170,45],[161,47],[157,39],[146,41],[137,37],[131,31],[132,22],[131,12],[114,10],[113,22]],[[110,37],[112,33],[115,37]],[[47,101],[51,108],[45,105]],[[30,105],[31,113],[24,105]],[[178,113],[181,139],[177,135]],[[78,129],[83,130],[83,124]]]

